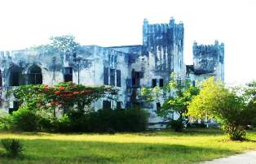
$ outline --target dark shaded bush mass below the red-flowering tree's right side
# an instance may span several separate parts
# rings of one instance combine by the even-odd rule
[[[135,108],[104,109],[87,114],[70,110],[56,122],[57,132],[141,132],[148,125],[148,113]]]

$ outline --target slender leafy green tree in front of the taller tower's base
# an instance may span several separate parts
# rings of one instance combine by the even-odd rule
[[[163,92],[169,93],[169,97],[163,103],[163,106],[157,110],[157,115],[166,117],[176,112],[179,114],[179,119],[172,120],[170,126],[176,132],[183,130],[185,121],[185,114],[188,111],[188,103],[192,98],[199,93],[199,88],[193,86],[190,80],[179,78],[175,74],[170,75],[170,82],[163,88]],[[154,101],[161,97],[160,88],[143,88],[142,95],[146,97],[147,101]]]

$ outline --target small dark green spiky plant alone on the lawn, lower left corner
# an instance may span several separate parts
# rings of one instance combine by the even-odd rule
[[[7,151],[7,157],[16,158],[24,151],[23,145],[20,140],[15,139],[2,139],[3,148]]]

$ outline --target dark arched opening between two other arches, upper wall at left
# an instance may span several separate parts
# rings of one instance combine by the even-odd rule
[[[9,86],[19,86],[24,84],[24,76],[22,70],[18,66],[12,66],[9,69]]]

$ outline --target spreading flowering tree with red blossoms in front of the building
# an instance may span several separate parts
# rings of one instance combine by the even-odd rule
[[[84,112],[86,106],[101,97],[115,99],[117,89],[113,87],[89,87],[71,82],[60,83],[50,87],[45,84],[21,85],[11,91],[14,96],[30,110],[65,109]]]

